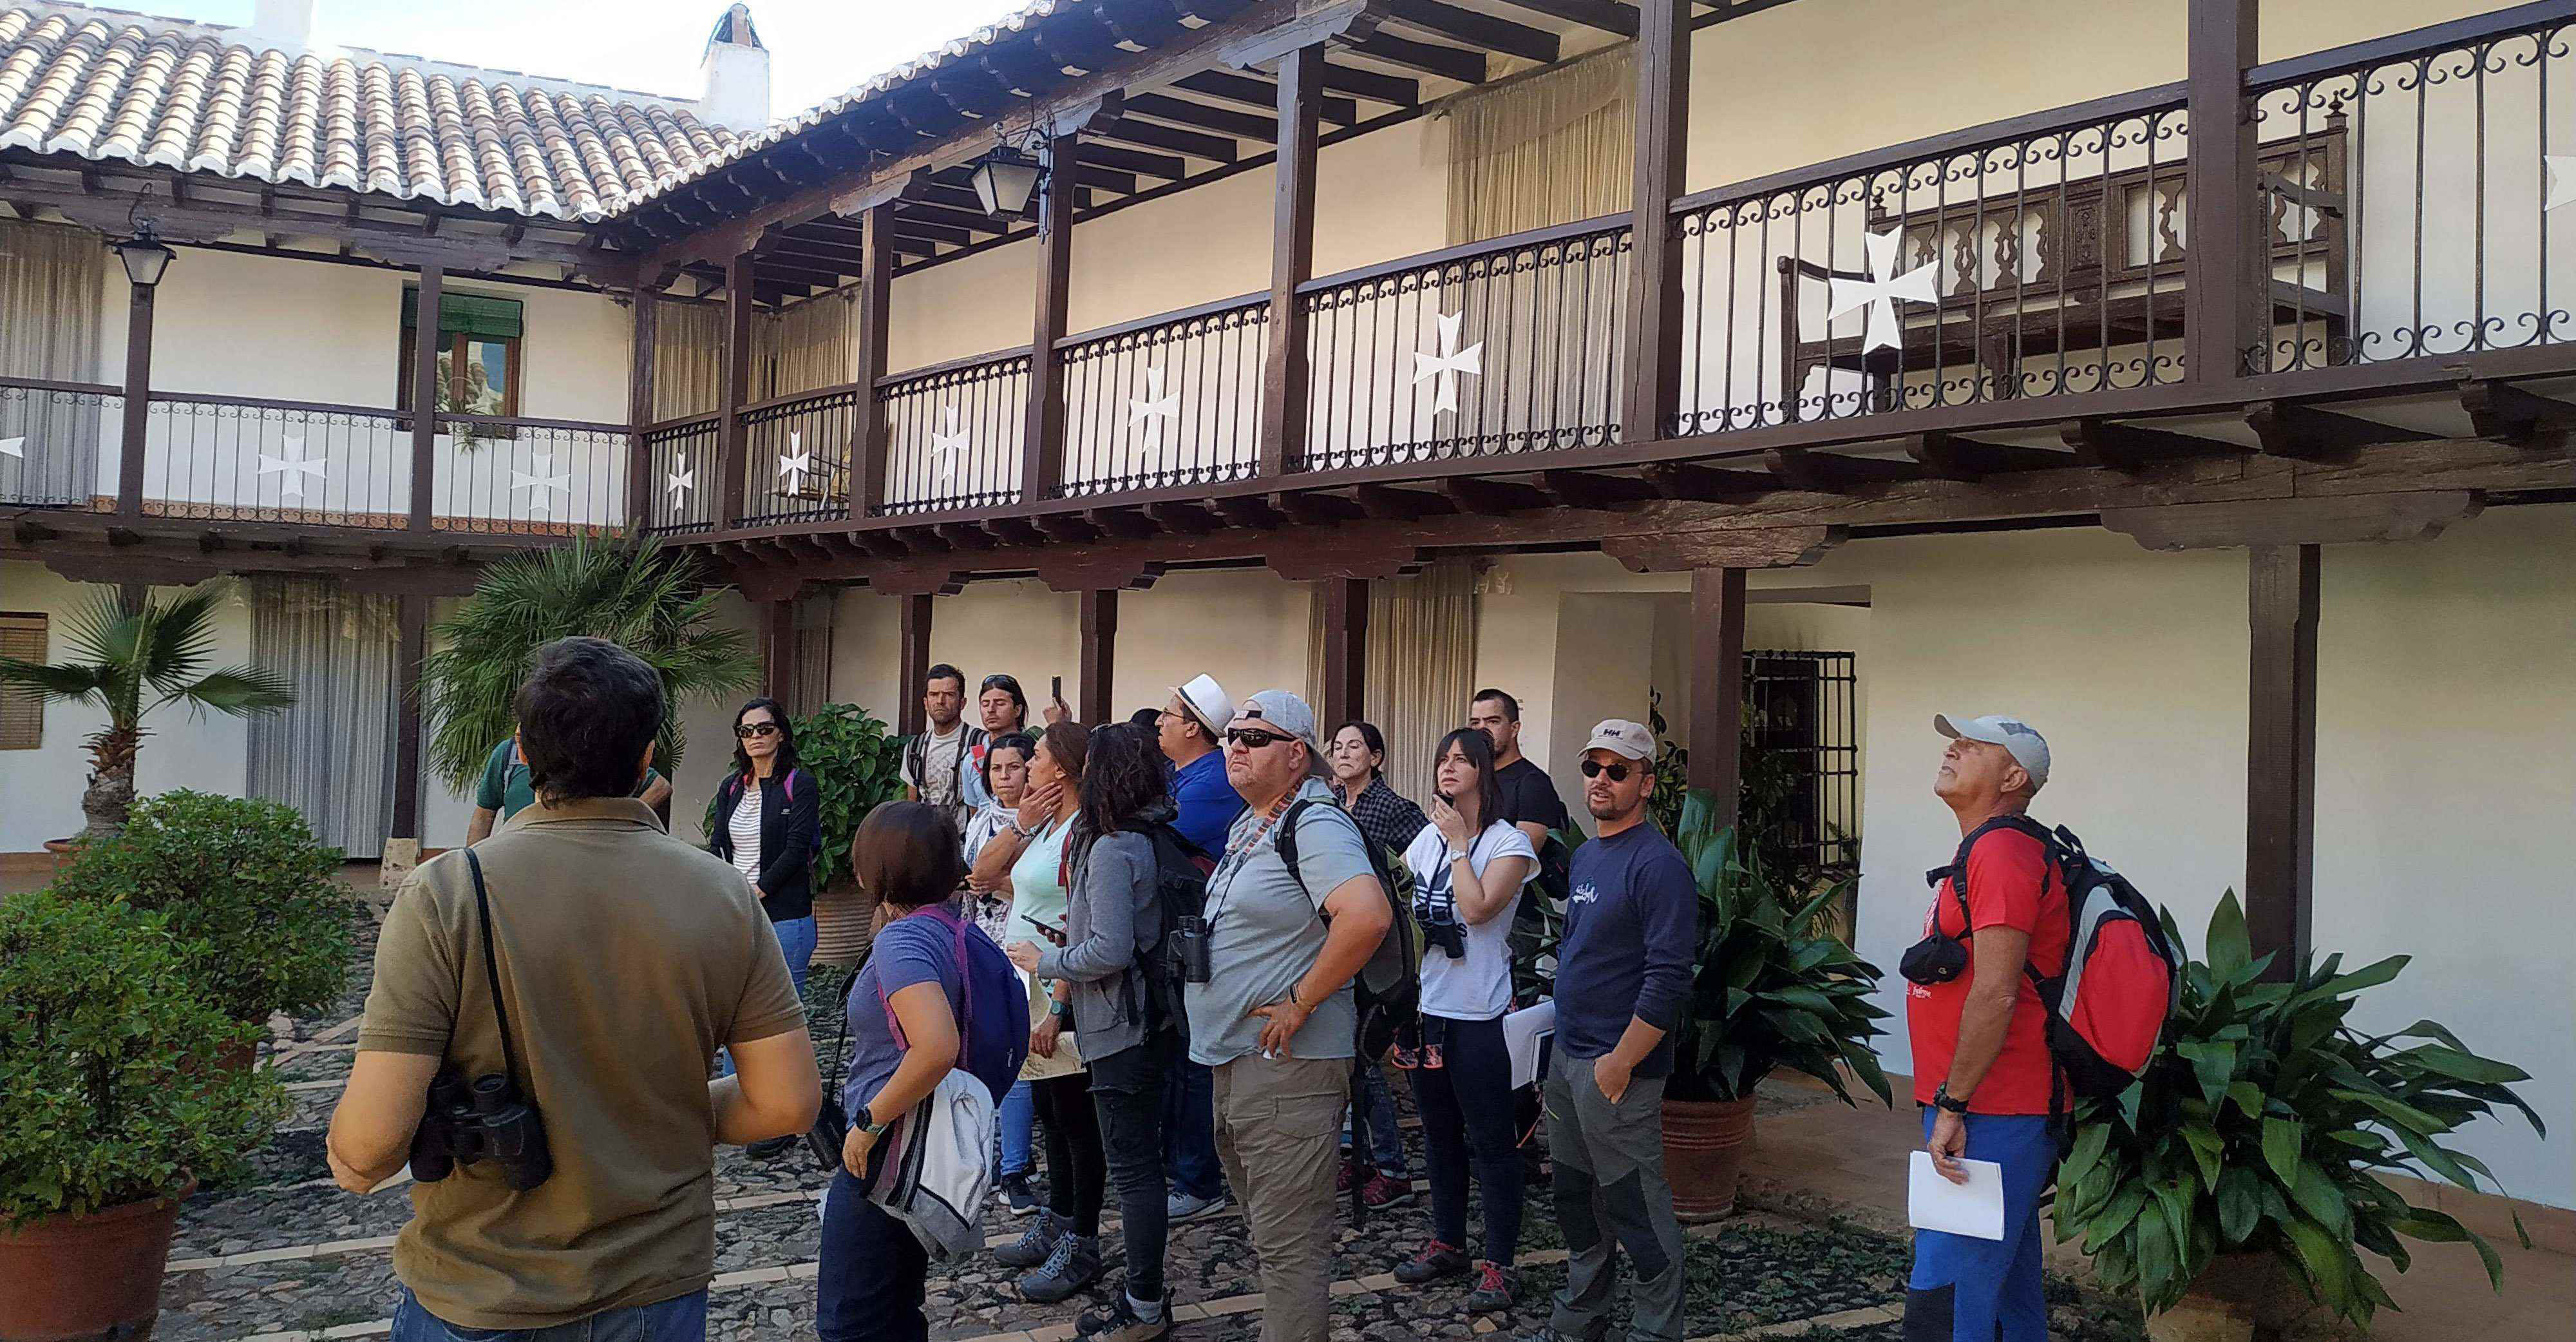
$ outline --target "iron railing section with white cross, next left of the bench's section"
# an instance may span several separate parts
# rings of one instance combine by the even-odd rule
[[[1618,440],[1628,224],[1584,219],[1298,286],[1329,471]]]

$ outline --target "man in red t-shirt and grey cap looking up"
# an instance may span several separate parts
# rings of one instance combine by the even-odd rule
[[[1932,729],[1950,737],[1932,793],[1963,837],[2027,811],[2048,783],[2048,739],[2020,719],[1937,714]],[[1906,984],[1906,1033],[1932,1164],[1953,1182],[1968,1182],[1960,1159],[2002,1164],[2004,1236],[1914,1234],[1906,1339],[2045,1342],[2040,1195],[2058,1149],[2048,1131],[2048,1010],[2025,969],[2066,971],[2066,881],[2048,845],[2012,827],[1976,840],[1965,876],[1965,896],[1955,876],[1932,891],[1924,935],[1965,943],[1968,969],[1942,984]]]

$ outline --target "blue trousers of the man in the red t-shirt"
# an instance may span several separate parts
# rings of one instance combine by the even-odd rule
[[[1932,1139],[1924,1108],[1924,1141]],[[1914,1231],[1906,1278],[1906,1337],[1955,1342],[2048,1342],[2040,1283],[2040,1195],[2056,1177],[2058,1144],[2045,1115],[1971,1113],[1968,1159],[2004,1167],[2004,1239]]]

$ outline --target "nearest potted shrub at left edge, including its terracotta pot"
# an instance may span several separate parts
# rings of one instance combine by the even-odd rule
[[[142,1337],[178,1203],[286,1115],[162,914],[0,899],[0,1337]]]

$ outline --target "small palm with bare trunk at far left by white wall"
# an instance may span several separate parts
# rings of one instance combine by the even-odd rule
[[[0,657],[0,685],[93,703],[108,714],[108,726],[88,739],[90,788],[80,796],[80,811],[90,824],[82,840],[95,842],[126,827],[126,809],[134,806],[134,757],[149,734],[144,719],[162,703],[247,719],[296,701],[283,675],[250,665],[204,670],[214,654],[214,608],[222,600],[219,585],[198,587],[167,605],[155,598],[126,605],[113,590],[103,590],[70,618],[75,662],[39,665]]]

